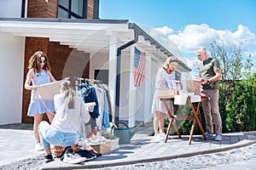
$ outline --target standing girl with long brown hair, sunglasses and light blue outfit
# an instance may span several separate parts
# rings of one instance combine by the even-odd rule
[[[51,100],[45,99],[34,99],[36,94],[35,86],[55,82],[55,77],[51,74],[51,68],[47,55],[42,51],[37,51],[28,61],[28,69],[26,74],[26,82],[24,88],[27,90],[32,90],[30,104],[28,105],[27,116],[34,117],[34,136],[36,139],[35,150],[44,150],[40,144],[39,134],[38,134],[38,124],[43,121],[43,115],[46,115],[49,118],[49,122],[52,122],[54,117],[55,107],[54,102]]]

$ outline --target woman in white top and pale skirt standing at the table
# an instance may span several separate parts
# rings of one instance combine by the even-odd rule
[[[156,74],[152,112],[154,113],[154,139],[157,140],[162,140],[166,137],[166,133],[164,133],[164,126],[167,113],[165,105],[157,97],[157,89],[168,88],[167,82],[175,79],[175,70],[177,65],[177,58],[175,56],[171,56],[166,59],[166,62]],[[173,106],[171,101],[167,101],[167,105],[170,106],[169,109],[172,111]]]

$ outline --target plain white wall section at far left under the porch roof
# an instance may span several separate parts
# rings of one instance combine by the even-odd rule
[[[0,124],[21,122],[25,37],[0,37]]]

